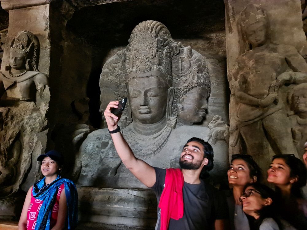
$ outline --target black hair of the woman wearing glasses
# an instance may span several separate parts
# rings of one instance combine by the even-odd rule
[[[248,217],[249,221],[252,222],[250,224],[251,230],[254,229],[259,230],[260,225],[262,224],[263,220],[266,218],[272,218],[277,223],[279,229],[282,230],[283,229],[282,223],[280,221],[279,216],[276,215],[276,213],[279,213],[279,211],[278,211],[278,202],[276,201],[277,196],[275,191],[269,188],[268,186],[260,183],[249,183],[244,187],[243,191],[245,191],[246,188],[249,186],[253,187],[253,189],[255,189],[263,199],[266,198],[272,199],[272,203],[270,205],[263,206],[261,210],[257,211],[257,214],[259,215],[259,218],[257,220]]]

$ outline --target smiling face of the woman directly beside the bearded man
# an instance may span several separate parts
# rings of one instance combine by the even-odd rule
[[[229,184],[245,186],[254,182],[250,177],[247,163],[242,159],[235,159],[231,162],[227,175]]]

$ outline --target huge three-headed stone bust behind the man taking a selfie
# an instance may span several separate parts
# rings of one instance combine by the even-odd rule
[[[210,94],[204,57],[191,47],[174,41],[160,22],[143,21],[134,28],[126,49],[117,52],[104,65],[99,85],[101,112],[107,100],[128,97],[120,124],[123,136],[135,155],[151,165],[179,167],[183,146],[176,143],[185,143],[190,135],[205,140],[210,138],[209,128],[191,126],[205,116]],[[201,105],[197,105],[199,99],[203,101]],[[178,109],[183,122],[176,128]],[[197,119],[187,114],[191,109]],[[228,130],[227,124],[223,126]],[[221,177],[228,161],[228,145],[219,139],[213,148],[219,165],[213,174]],[[80,185],[144,187],[121,164],[107,129],[91,132],[78,154],[82,162]]]

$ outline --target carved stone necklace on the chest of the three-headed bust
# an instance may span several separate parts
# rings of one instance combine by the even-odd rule
[[[132,123],[122,129],[123,135],[137,158],[148,159],[156,155],[166,144],[172,128],[166,124],[162,130],[150,135],[140,135],[134,131]]]

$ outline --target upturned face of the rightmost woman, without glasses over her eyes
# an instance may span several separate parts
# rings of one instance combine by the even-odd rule
[[[287,185],[290,183],[290,180],[293,179],[290,177],[290,167],[282,158],[274,159],[273,162],[270,164],[267,173],[267,181],[275,185]]]

